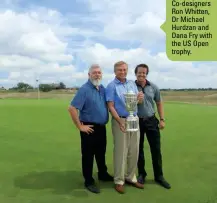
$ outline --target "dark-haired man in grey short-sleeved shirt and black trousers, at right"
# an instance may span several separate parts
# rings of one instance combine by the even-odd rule
[[[165,127],[163,102],[160,90],[154,83],[146,79],[149,73],[149,67],[146,64],[139,64],[135,68],[135,81],[138,91],[143,91],[144,102],[138,104],[138,117],[140,126],[140,147],[138,160],[138,181],[142,184],[145,182],[147,173],[145,171],[144,157],[144,139],[147,137],[151,149],[152,165],[154,170],[154,178],[157,183],[163,187],[170,189],[170,184],[163,177],[162,155],[160,142],[160,129]],[[155,104],[160,117],[160,121],[155,116]]]

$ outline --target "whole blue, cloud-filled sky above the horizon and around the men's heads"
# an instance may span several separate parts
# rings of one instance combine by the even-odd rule
[[[161,88],[217,87],[216,62],[173,62],[165,53],[165,0],[2,0],[0,2],[0,86],[20,81],[87,80],[99,63],[103,84],[114,78],[113,64],[125,60],[135,79],[138,63]]]

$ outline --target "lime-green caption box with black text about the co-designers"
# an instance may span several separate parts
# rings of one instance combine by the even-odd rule
[[[167,0],[166,53],[172,61],[217,61],[217,0]]]

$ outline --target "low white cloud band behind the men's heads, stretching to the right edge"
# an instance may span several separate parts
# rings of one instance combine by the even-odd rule
[[[165,53],[151,55],[144,48],[107,49],[102,44],[96,44],[82,51],[80,57],[89,63],[99,63],[105,72],[106,83],[114,77],[109,74],[113,72],[113,64],[124,60],[129,64],[128,78],[133,80],[135,79],[135,66],[139,63],[146,63],[150,67],[148,78],[161,88],[217,87],[216,64],[200,65],[195,68],[191,62],[173,62],[167,58]]]

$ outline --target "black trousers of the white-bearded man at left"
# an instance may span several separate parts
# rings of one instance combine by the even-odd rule
[[[85,123],[84,125],[92,123]],[[82,173],[85,179],[85,185],[94,183],[93,179],[93,162],[96,159],[98,172],[100,176],[107,173],[107,166],[105,162],[106,153],[106,127],[105,125],[95,124],[92,134],[80,132],[81,135],[81,153],[82,153]]]

